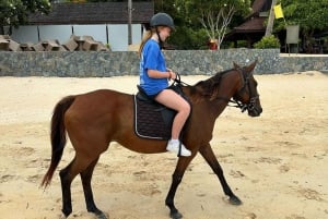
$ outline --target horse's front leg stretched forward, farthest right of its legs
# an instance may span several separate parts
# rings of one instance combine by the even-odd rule
[[[224,194],[230,197],[229,202],[232,205],[242,205],[242,200],[230,188],[230,186],[224,178],[223,170],[213,153],[213,149],[211,148],[211,145],[208,144],[208,145],[201,147],[199,149],[199,153],[206,159],[208,165],[212,168],[213,172],[218,175],[218,178],[221,182],[222,188],[224,191]]]

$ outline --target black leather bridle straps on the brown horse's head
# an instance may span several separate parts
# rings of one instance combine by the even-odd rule
[[[237,92],[235,96],[242,97],[242,94],[247,92],[246,87],[248,88],[248,95],[249,95],[249,102],[248,104],[243,104],[241,100],[237,100],[235,97],[233,99],[230,99],[229,102],[235,104],[235,105],[227,105],[230,107],[236,107],[242,110],[242,112],[245,112],[246,110],[248,111],[254,111],[255,110],[255,104],[256,100],[259,99],[259,96],[256,94],[251,94],[250,85],[249,85],[249,75],[246,74],[244,69],[237,69],[237,71],[241,73],[241,77],[243,80],[243,86],[242,88]]]

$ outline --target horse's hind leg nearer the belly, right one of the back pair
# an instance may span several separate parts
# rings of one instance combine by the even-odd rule
[[[84,192],[87,211],[95,214],[98,219],[106,219],[105,214],[102,210],[99,210],[94,203],[93,192],[91,187],[91,179],[92,179],[93,170],[98,159],[99,157],[95,159],[93,162],[91,162],[90,166],[80,173],[80,175],[83,185],[83,192]]]

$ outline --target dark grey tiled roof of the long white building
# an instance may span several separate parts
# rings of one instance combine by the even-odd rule
[[[133,2],[132,23],[149,23],[154,14],[153,1]],[[30,24],[126,24],[127,2],[54,3],[47,14],[30,15]]]

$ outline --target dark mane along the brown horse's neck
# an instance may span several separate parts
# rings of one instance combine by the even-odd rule
[[[227,72],[231,72],[231,70],[225,70],[223,72],[216,72],[213,76],[206,81],[199,81],[197,84],[190,87],[190,99],[192,101],[200,101],[203,99],[211,99],[213,96],[215,96],[219,85],[221,83],[221,78],[224,74]]]

